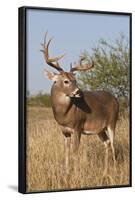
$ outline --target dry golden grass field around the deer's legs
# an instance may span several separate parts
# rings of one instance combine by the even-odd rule
[[[104,146],[97,136],[82,135],[78,165],[66,177],[64,136],[51,108],[29,107],[27,113],[27,191],[129,184],[128,117],[121,117],[116,128],[116,171],[110,157],[108,175],[103,177]]]

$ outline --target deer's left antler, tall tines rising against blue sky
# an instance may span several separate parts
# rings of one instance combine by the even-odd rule
[[[64,71],[59,63],[58,63],[58,60],[60,60],[61,58],[63,58],[65,56],[64,55],[61,55],[61,56],[57,56],[57,57],[53,57],[53,58],[49,58],[49,52],[48,52],[48,48],[49,48],[49,45],[52,41],[53,38],[49,39],[49,41],[47,42],[46,44],[46,38],[47,38],[47,32],[45,33],[45,38],[44,38],[44,44],[41,44],[43,49],[40,50],[41,52],[43,52],[44,54],[44,58],[45,58],[45,62],[50,65],[51,67],[55,68],[56,70],[58,71]]]

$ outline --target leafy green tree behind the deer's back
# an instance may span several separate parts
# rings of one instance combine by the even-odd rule
[[[129,95],[129,41],[120,34],[115,41],[100,39],[92,48],[80,55],[85,62],[93,59],[95,65],[91,71],[80,72],[77,79],[83,89],[107,90],[116,97],[128,98]]]

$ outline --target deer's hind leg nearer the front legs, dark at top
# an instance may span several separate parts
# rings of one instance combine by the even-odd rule
[[[109,161],[109,145],[110,145],[110,141],[108,138],[108,135],[106,134],[105,131],[100,132],[98,134],[100,140],[104,143],[105,146],[105,159],[104,159],[104,172],[103,175],[106,175],[108,172],[108,161]]]

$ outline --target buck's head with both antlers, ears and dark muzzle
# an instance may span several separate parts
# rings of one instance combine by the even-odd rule
[[[79,63],[75,64],[74,67],[72,67],[71,64],[70,72],[65,72],[60,67],[60,64],[58,62],[60,59],[64,57],[65,54],[50,58],[48,48],[52,41],[52,38],[49,39],[48,42],[46,42],[46,38],[47,38],[47,32],[45,34],[44,43],[41,44],[43,47],[41,51],[43,52],[45,62],[54,69],[56,69],[59,73],[49,72],[45,69],[44,70],[45,74],[47,75],[48,79],[54,81],[54,87],[59,89],[59,91],[64,93],[66,96],[80,97],[81,91],[77,87],[74,72],[90,70],[94,66],[93,61],[91,64],[90,63],[82,64],[83,59],[80,59]]]

